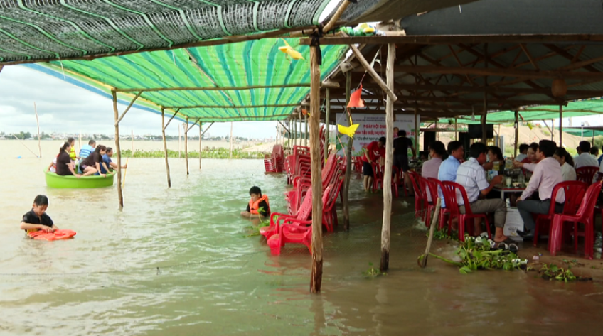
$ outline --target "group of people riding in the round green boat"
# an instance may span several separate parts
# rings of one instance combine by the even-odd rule
[[[69,138],[60,147],[58,155],[53,158],[47,170],[60,176],[73,175],[78,178],[90,175],[106,176],[107,173],[111,173],[110,169],[117,168],[117,163],[111,161],[112,156],[112,148],[97,146],[95,140],[90,140],[87,145],[82,146],[79,155],[76,156],[75,139]],[[79,160],[77,166],[76,159]],[[127,165],[122,168],[127,168]]]

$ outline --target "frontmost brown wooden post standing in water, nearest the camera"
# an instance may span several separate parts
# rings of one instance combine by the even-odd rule
[[[322,283],[322,162],[320,152],[320,65],[316,46],[310,47],[310,160],[312,170],[312,273],[311,293],[320,293]],[[307,119],[307,116],[306,116]],[[308,124],[306,124],[307,126]]]

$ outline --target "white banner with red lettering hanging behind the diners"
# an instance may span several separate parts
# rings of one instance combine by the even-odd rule
[[[373,141],[378,141],[380,137],[385,136],[385,114],[352,114],[354,124],[360,124],[354,135],[354,141],[352,146],[352,154],[358,156],[361,154],[362,148]],[[348,126],[349,119],[348,115],[342,113],[337,114],[337,122],[343,126]],[[420,125],[421,117],[417,115],[417,125]],[[415,115],[414,114],[402,114],[396,115],[396,121],[394,126],[406,131],[407,138],[412,139],[412,143],[415,143]],[[341,152],[341,141],[343,143],[348,142],[348,136],[338,134],[337,139],[337,151],[340,156],[343,156]],[[391,145],[390,145],[391,146]]]

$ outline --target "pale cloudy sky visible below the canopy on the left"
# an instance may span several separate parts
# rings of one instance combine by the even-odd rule
[[[46,133],[114,134],[111,99],[71,85],[56,77],[20,65],[4,67],[0,72],[0,131],[36,134],[36,102],[40,131]],[[119,104],[119,111],[125,105]],[[178,135],[178,122],[172,121],[166,134]],[[122,134],[161,134],[161,115],[130,109],[119,123]],[[276,135],[276,121],[240,121],[233,134],[245,138],[270,138]],[[191,130],[195,135],[198,129]],[[230,134],[230,122],[215,123],[207,132],[213,136]],[[206,135],[207,135],[206,134]]]

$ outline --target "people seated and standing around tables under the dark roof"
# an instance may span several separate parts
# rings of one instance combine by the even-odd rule
[[[397,143],[396,143],[397,141]],[[397,146],[396,146],[397,145]],[[405,138],[405,132],[400,131],[397,139],[394,140],[394,165],[406,173],[408,167],[407,148],[412,149],[412,156],[415,157],[415,149],[412,147],[412,141]],[[519,146],[520,154],[513,161],[513,166],[523,168],[529,178],[528,184],[517,198],[516,205],[521,219],[523,220],[523,232],[518,232],[523,239],[533,239],[535,230],[535,220],[533,214],[547,214],[550,209],[550,202],[555,202],[555,212],[562,212],[565,202],[565,194],[561,190],[557,193],[555,200],[551,200],[553,188],[557,183],[567,180],[576,180],[576,169],[584,166],[597,166],[603,172],[601,158],[597,159],[597,151],[593,151],[589,142],[581,141],[577,148],[578,156],[572,158],[565,148],[557,147],[554,141],[541,140],[539,143],[522,144]],[[370,143],[363,155],[363,175],[364,186],[368,189],[368,183],[373,176],[371,163],[380,160],[385,156],[385,138]],[[496,146],[486,146],[484,143],[473,143],[469,147],[469,158],[465,159],[465,148],[459,141],[450,141],[447,151],[444,143],[433,141],[429,144],[429,160],[422,165],[421,175],[424,178],[436,178],[442,182],[452,181],[461,185],[466,191],[467,200],[471,212],[476,214],[491,214],[494,217],[494,226],[496,233],[493,237],[494,242],[509,242],[508,237],[503,234],[503,228],[506,222],[506,202],[498,195],[490,196],[491,191],[503,181],[503,169],[505,160],[501,148]],[[486,178],[486,171],[498,169],[498,175],[491,180]],[[405,180],[407,180],[407,174]],[[410,184],[405,181],[410,187]],[[412,188],[409,188],[412,190]],[[458,194],[457,194],[458,195]],[[445,208],[444,195],[442,190],[438,190],[438,196],[442,200],[442,207]],[[457,197],[459,211],[465,213],[464,200]],[[475,221],[474,232],[482,232],[481,221]]]

